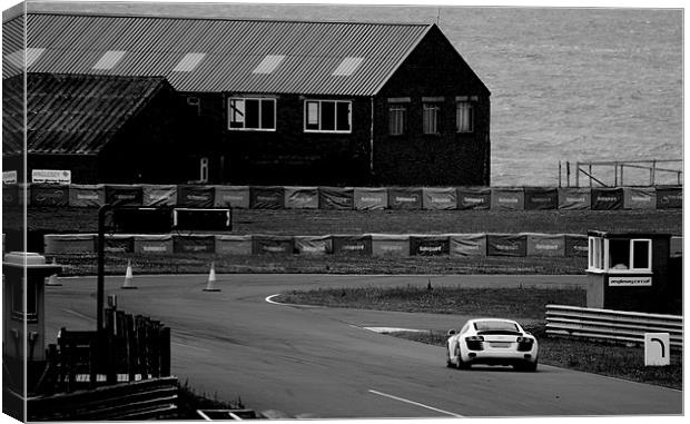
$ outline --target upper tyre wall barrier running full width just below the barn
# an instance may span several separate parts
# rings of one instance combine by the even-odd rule
[[[24,194],[26,191],[26,194]],[[3,206],[231,207],[343,210],[617,210],[682,208],[682,186],[660,187],[293,187],[3,184]]]

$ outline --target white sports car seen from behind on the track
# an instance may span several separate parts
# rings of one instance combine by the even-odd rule
[[[536,371],[536,338],[511,319],[470,319],[457,333],[448,331],[446,364],[467,369],[472,364],[512,365]]]

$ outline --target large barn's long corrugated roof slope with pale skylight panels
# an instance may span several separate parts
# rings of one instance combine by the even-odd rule
[[[46,51],[29,71],[164,76],[179,91],[372,96],[430,28],[30,13],[28,46]],[[92,69],[107,51],[127,55],[111,69]],[[206,56],[180,72],[190,53]]]

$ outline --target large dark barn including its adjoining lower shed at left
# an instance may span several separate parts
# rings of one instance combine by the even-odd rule
[[[433,23],[16,17],[3,22],[6,170],[23,144],[23,69],[28,171],[490,184],[490,91]]]

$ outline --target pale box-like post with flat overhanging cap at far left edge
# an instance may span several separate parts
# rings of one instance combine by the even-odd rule
[[[11,252],[2,262],[2,358],[18,385],[22,385],[26,362],[29,392],[46,366],[45,279],[61,270],[36,253]]]

